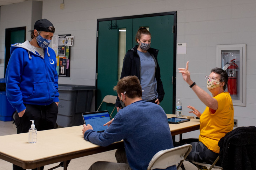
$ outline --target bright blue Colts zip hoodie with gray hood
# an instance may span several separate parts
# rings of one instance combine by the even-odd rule
[[[41,57],[29,41],[11,45],[11,58],[6,69],[6,95],[18,111],[24,104],[49,105],[59,102],[56,55],[44,49]]]

